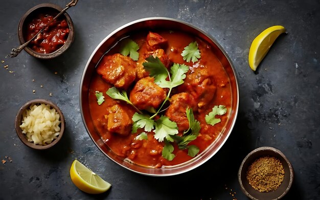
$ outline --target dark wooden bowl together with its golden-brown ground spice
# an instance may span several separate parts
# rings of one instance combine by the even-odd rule
[[[242,191],[251,199],[280,199],[290,189],[294,177],[285,155],[273,147],[251,151],[241,163],[238,179]]]

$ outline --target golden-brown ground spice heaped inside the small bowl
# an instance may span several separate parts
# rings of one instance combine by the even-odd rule
[[[284,179],[284,169],[279,159],[265,156],[255,160],[246,173],[249,184],[260,192],[276,190]]]

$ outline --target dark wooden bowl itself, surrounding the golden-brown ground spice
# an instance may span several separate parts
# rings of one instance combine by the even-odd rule
[[[264,156],[271,156],[278,158],[284,168],[284,180],[282,184],[274,191],[270,192],[259,192],[249,185],[246,179],[246,171],[250,164],[252,164],[256,159]],[[269,199],[280,199],[289,191],[294,178],[294,171],[292,165],[285,157],[285,155],[278,149],[273,147],[260,147],[251,151],[242,161],[240,169],[238,172],[238,179],[241,186],[241,190],[250,199],[259,200],[269,200]]]

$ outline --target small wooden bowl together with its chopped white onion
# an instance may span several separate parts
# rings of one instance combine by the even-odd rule
[[[48,149],[62,138],[65,120],[60,108],[51,101],[34,99],[19,109],[15,118],[17,136],[33,149]]]

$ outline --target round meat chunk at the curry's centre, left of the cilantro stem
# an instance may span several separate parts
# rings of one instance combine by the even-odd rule
[[[154,78],[145,77],[135,83],[130,101],[139,109],[157,108],[167,97],[166,90],[154,83]]]

